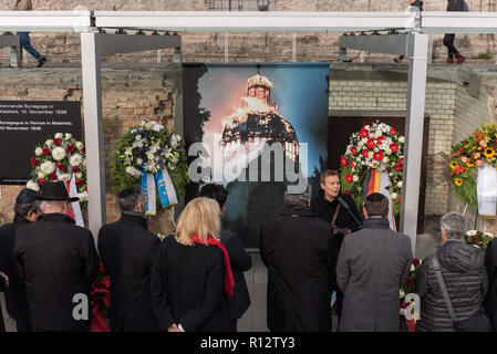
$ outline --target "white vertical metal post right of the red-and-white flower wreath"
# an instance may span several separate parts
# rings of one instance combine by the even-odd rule
[[[428,56],[428,34],[410,33],[410,71],[405,122],[405,157],[402,192],[401,231],[411,237],[416,252],[417,207]],[[427,144],[427,142],[425,142]]]

